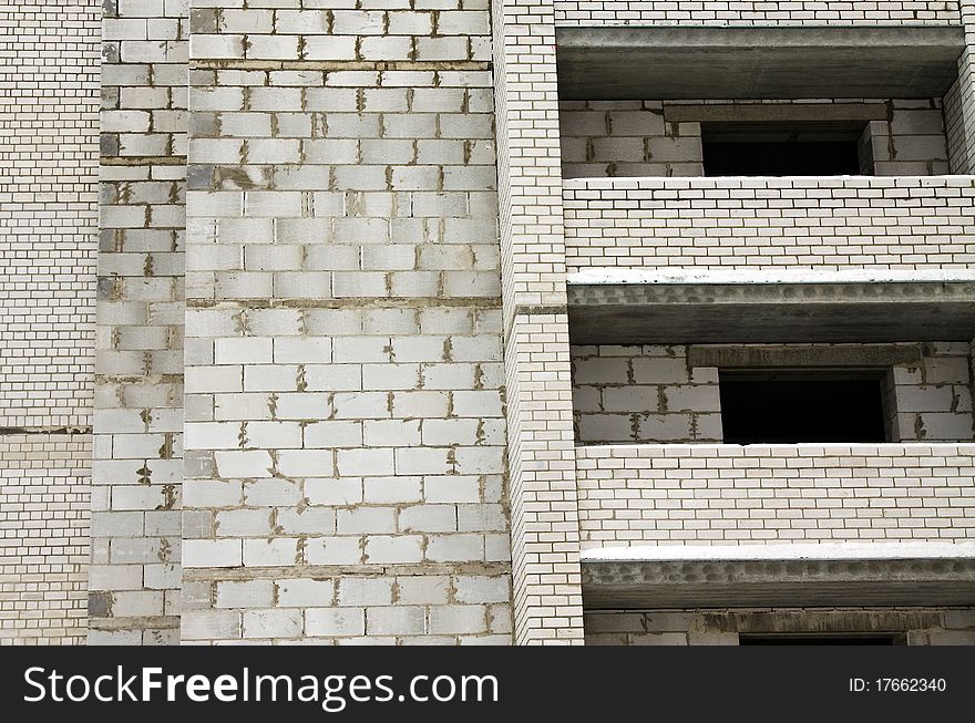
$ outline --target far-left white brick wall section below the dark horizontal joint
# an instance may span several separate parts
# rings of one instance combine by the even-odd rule
[[[84,644],[91,435],[0,434],[0,645]]]

